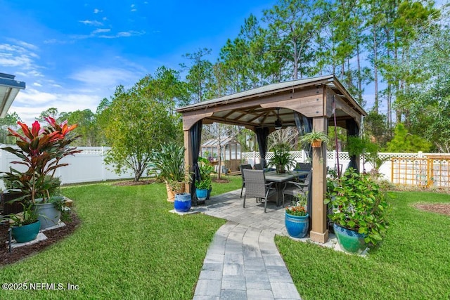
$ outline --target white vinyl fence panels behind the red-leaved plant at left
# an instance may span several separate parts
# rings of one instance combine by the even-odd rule
[[[6,145],[0,145],[4,148]],[[13,145],[11,145],[13,146]],[[68,156],[61,160],[62,163],[68,163],[67,167],[56,169],[55,175],[60,177],[61,183],[84,183],[92,181],[106,181],[121,178],[133,178],[131,171],[117,175],[112,166],[108,166],[103,161],[105,152],[109,147],[78,147],[82,150],[74,156]],[[5,150],[0,151],[0,172],[9,171],[9,168],[25,171],[24,166],[20,164],[11,164],[13,161],[19,161],[18,157]],[[1,188],[4,188],[3,181],[0,182]]]

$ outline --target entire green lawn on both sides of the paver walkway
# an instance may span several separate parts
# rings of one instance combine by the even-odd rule
[[[212,195],[240,188],[213,183]],[[78,285],[78,290],[4,291],[0,299],[192,299],[207,247],[224,223],[170,214],[162,184],[64,188],[82,226],[46,251],[0,268],[0,281]],[[276,237],[303,299],[449,299],[450,218],[416,202],[450,195],[395,193],[390,230],[368,258]]]

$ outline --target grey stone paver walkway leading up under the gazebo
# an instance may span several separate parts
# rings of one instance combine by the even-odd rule
[[[240,190],[212,197],[200,211],[229,220],[207,251],[194,300],[301,299],[274,236],[287,235],[284,210],[250,198],[242,207]]]

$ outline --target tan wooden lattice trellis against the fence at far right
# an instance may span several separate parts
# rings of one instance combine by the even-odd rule
[[[392,157],[392,183],[423,188],[450,188],[450,156]]]

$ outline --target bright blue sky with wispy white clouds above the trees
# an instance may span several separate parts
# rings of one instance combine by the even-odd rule
[[[244,19],[276,1],[0,0],[0,72],[25,81],[9,112],[25,122],[50,107],[96,111],[115,87],[132,86],[183,54],[212,48],[217,58]]]

